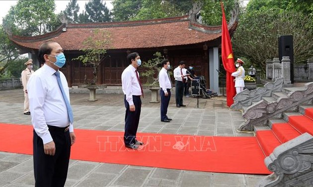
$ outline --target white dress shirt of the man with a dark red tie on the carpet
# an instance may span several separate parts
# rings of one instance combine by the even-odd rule
[[[122,89],[129,105],[133,105],[133,95],[141,95],[141,87],[136,76],[136,68],[129,65],[122,73]],[[139,73],[138,73],[139,77]]]

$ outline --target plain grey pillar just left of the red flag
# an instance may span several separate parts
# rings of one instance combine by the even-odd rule
[[[210,76],[210,90],[220,94],[219,89],[219,48],[209,48],[209,76]]]

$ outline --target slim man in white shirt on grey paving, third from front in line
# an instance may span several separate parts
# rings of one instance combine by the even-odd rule
[[[170,122],[172,119],[167,117],[167,107],[170,100],[170,89],[172,88],[172,82],[169,78],[167,70],[170,68],[169,61],[164,59],[162,62],[162,69],[158,74],[158,83],[160,85],[160,97],[161,97],[161,122]]]

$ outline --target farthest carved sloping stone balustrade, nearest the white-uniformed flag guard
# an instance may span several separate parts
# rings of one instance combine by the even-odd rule
[[[264,87],[259,87],[249,91],[245,89],[243,92],[237,93],[234,97],[234,104],[231,109],[240,110],[242,106],[251,106],[252,102],[260,101],[262,97],[271,96],[272,92],[280,92],[283,87],[283,79],[275,79],[274,82],[269,82]]]

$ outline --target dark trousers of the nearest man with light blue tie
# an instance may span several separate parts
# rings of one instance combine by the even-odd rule
[[[35,187],[64,187],[71,154],[70,133],[50,129],[49,132],[56,145],[54,156],[45,154],[42,139],[33,132]]]

